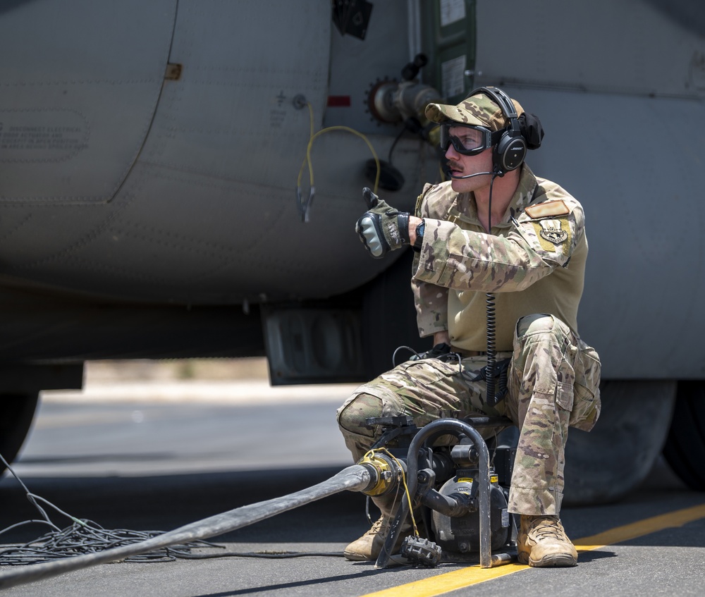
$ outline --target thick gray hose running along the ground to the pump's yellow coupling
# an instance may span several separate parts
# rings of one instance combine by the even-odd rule
[[[131,555],[139,555],[140,553],[177,545],[185,541],[206,539],[229,531],[235,531],[236,529],[247,527],[250,524],[255,524],[255,522],[259,522],[260,520],[281,514],[281,512],[287,512],[288,510],[293,510],[296,507],[320,500],[321,498],[333,496],[333,494],[340,493],[341,491],[366,491],[375,481],[376,480],[372,479],[372,474],[368,467],[362,464],[353,464],[352,467],[343,469],[330,479],[322,481],[312,487],[302,489],[295,493],[289,493],[287,496],[281,496],[281,498],[274,498],[272,500],[235,508],[234,510],[228,510],[228,512],[185,524],[183,527],[149,538],[140,543],[132,543],[127,546],[106,549],[99,553],[76,555],[73,558],[42,562],[41,564],[1,572],[0,589],[7,589],[8,587],[18,584],[56,577],[59,576],[59,574],[73,570],[123,560]]]

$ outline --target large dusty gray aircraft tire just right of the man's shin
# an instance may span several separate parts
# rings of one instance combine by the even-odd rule
[[[594,429],[568,433],[563,503],[611,503],[641,483],[666,441],[675,395],[675,381],[603,382]]]

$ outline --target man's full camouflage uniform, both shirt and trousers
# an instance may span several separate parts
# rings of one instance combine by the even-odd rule
[[[599,357],[577,335],[587,257],[582,207],[524,165],[491,235],[472,193],[450,183],[424,187],[417,216],[426,222],[412,278],[419,333],[447,330],[461,359],[405,362],[357,388],[338,410],[345,443],[355,459],[374,443],[381,430],[368,429],[367,417],[410,414],[422,426],[503,414],[520,429],[510,512],[558,514],[568,426],[589,431],[600,411]],[[484,380],[474,381],[486,364],[485,293],[497,293],[497,359],[511,359],[508,394],[494,406]]]

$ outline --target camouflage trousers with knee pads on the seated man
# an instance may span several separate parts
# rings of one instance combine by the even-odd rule
[[[600,362],[594,349],[551,315],[517,323],[508,393],[495,406],[485,399],[484,380],[472,381],[486,357],[456,362],[407,361],[365,383],[338,409],[345,445],[359,460],[381,434],[367,417],[410,415],[417,426],[442,417],[482,412],[504,415],[520,430],[509,493],[509,511],[553,515],[563,499],[568,427],[589,431],[600,413]]]

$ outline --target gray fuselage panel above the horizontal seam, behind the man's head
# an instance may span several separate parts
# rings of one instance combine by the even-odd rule
[[[677,5],[702,11],[697,0],[546,0],[532,10],[503,0],[513,20],[497,43],[498,28],[486,23],[496,23],[498,3],[479,0],[477,70],[496,83],[702,97],[705,23],[690,19],[684,28],[671,14]]]

